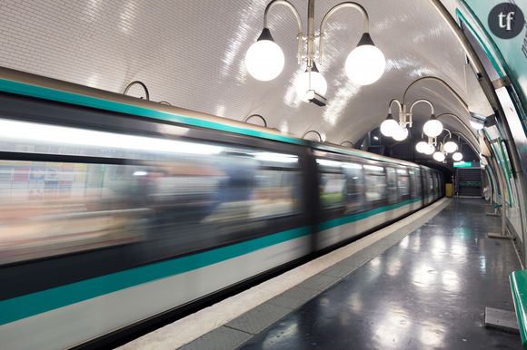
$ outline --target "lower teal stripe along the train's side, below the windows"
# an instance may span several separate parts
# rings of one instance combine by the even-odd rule
[[[350,215],[341,219],[323,222],[323,229],[333,228],[352,221],[365,219],[383,211],[396,209],[403,205],[420,200],[421,198],[408,199],[377,209],[365,211],[360,214]],[[338,223],[340,220],[340,224]],[[274,233],[261,238],[236,243],[231,246],[215,248],[194,255],[174,258],[143,267],[134,267],[128,270],[115,272],[85,279],[69,285],[45,289],[39,292],[14,297],[0,301],[0,325],[15,322],[25,317],[35,316],[46,311],[85,301],[94,297],[104,296],[128,287],[152,282],[156,279],[171,277],[200,267],[213,265],[230,258],[243,256],[261,248],[267,248],[285,241],[301,238],[308,235],[309,227],[293,228],[287,231]]]

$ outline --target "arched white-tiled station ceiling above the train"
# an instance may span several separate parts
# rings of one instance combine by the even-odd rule
[[[376,128],[388,102],[401,100],[406,86],[423,76],[442,78],[478,109],[474,112],[489,114],[461,45],[430,0],[358,1],[370,15],[370,33],[387,63],[383,77],[368,86],[353,84],[343,70],[363,19],[353,10],[333,16],[325,59],[318,64],[328,82],[325,107],[301,102],[294,93],[295,77],[304,69],[295,59],[296,24],[293,15],[276,6],[269,27],[285,54],[283,73],[272,82],[254,80],[245,71],[244,54],[262,30],[267,1],[3,0],[0,65],[111,92],[140,80],[154,101],[238,121],[259,113],[270,127],[297,136],[313,129],[334,143],[357,141]],[[307,1],[291,3],[303,16],[305,31]],[[316,1],[315,27],[338,3]],[[457,2],[443,3],[452,12]],[[416,84],[408,97],[409,102],[430,99],[436,114],[452,112],[469,124],[468,112],[441,84]],[[429,115],[426,106],[419,106],[414,119]],[[452,118],[442,121],[468,134]]]

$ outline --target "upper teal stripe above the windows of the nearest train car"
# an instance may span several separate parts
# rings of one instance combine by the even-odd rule
[[[79,95],[73,92],[63,92],[60,90],[49,89],[42,86],[31,85],[27,83],[18,83],[5,79],[0,79],[0,91],[15,93],[18,95],[30,96],[55,102],[65,102],[90,108],[96,108],[104,111],[120,112],[125,114],[138,115],[145,118],[156,119],[166,122],[177,122],[185,125],[192,125],[201,128],[214,129],[219,131],[228,131],[238,134],[254,136],[260,139],[273,141],[282,141],[294,144],[305,144],[301,139],[295,139],[283,135],[275,135],[264,131],[239,128],[232,125],[222,124],[220,122],[204,121],[197,118],[185,117],[169,112],[155,111],[144,107],[133,106],[121,102],[108,101],[95,97]]]

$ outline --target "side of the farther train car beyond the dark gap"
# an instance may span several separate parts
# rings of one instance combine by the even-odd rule
[[[319,249],[381,228],[432,202],[423,202],[422,169],[432,171],[423,166],[324,144],[313,145],[313,155],[320,173]]]

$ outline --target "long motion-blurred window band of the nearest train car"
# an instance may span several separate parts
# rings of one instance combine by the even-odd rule
[[[0,264],[133,242],[174,256],[206,248],[204,242],[261,234],[266,219],[301,211],[302,177],[293,154],[199,141],[162,140],[147,151],[109,139],[84,147],[69,136],[71,144],[56,135],[58,144],[45,143],[45,137],[0,146],[26,154],[0,160]],[[168,148],[175,145],[180,149]],[[33,151],[112,161],[32,160]]]

